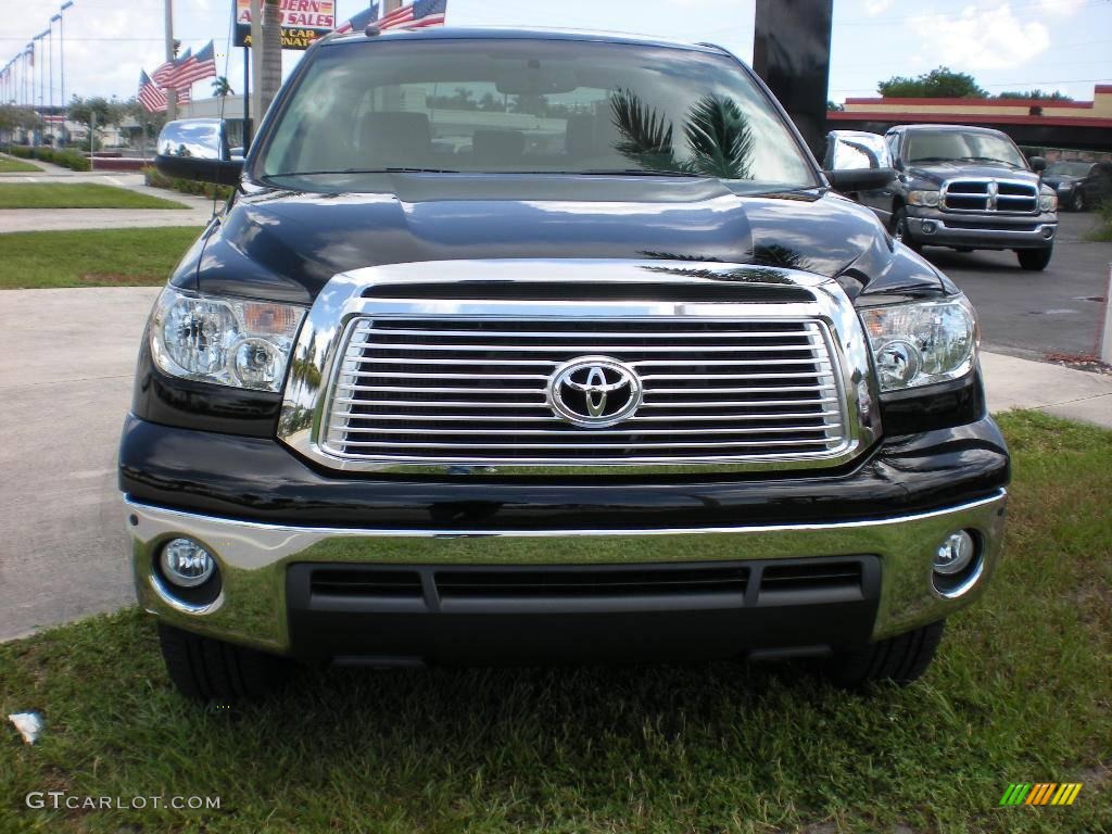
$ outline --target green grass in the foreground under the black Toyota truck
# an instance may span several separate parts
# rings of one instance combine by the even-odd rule
[[[0,731],[0,831],[1108,832],[1112,434],[1001,421],[1005,559],[910,688],[734,664],[348,672],[221,711],[171,691],[129,610],[0,646],[0,715],[46,721],[33,747]],[[1039,781],[1084,787],[997,807]],[[23,807],[51,790],[221,807]]]

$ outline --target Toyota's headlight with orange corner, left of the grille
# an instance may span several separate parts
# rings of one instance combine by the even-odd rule
[[[151,315],[151,354],[170,376],[279,391],[302,318],[301,307],[167,287]]]

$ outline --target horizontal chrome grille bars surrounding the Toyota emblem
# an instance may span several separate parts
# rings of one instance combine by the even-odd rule
[[[361,461],[587,465],[821,459],[850,441],[830,334],[812,320],[357,318],[319,444]],[[644,399],[608,428],[546,405],[564,363],[632,367]]]

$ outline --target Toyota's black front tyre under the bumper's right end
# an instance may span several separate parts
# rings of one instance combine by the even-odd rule
[[[857,688],[867,683],[892,681],[905,685],[917,681],[934,659],[946,620],[835,653],[826,675],[835,686]]]

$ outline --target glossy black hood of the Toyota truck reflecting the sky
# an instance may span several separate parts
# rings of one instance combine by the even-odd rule
[[[876,217],[822,191],[752,197],[718,180],[376,175],[359,192],[237,195],[173,281],[311,302],[363,267],[490,258],[707,260],[842,278],[851,294],[952,291]]]

